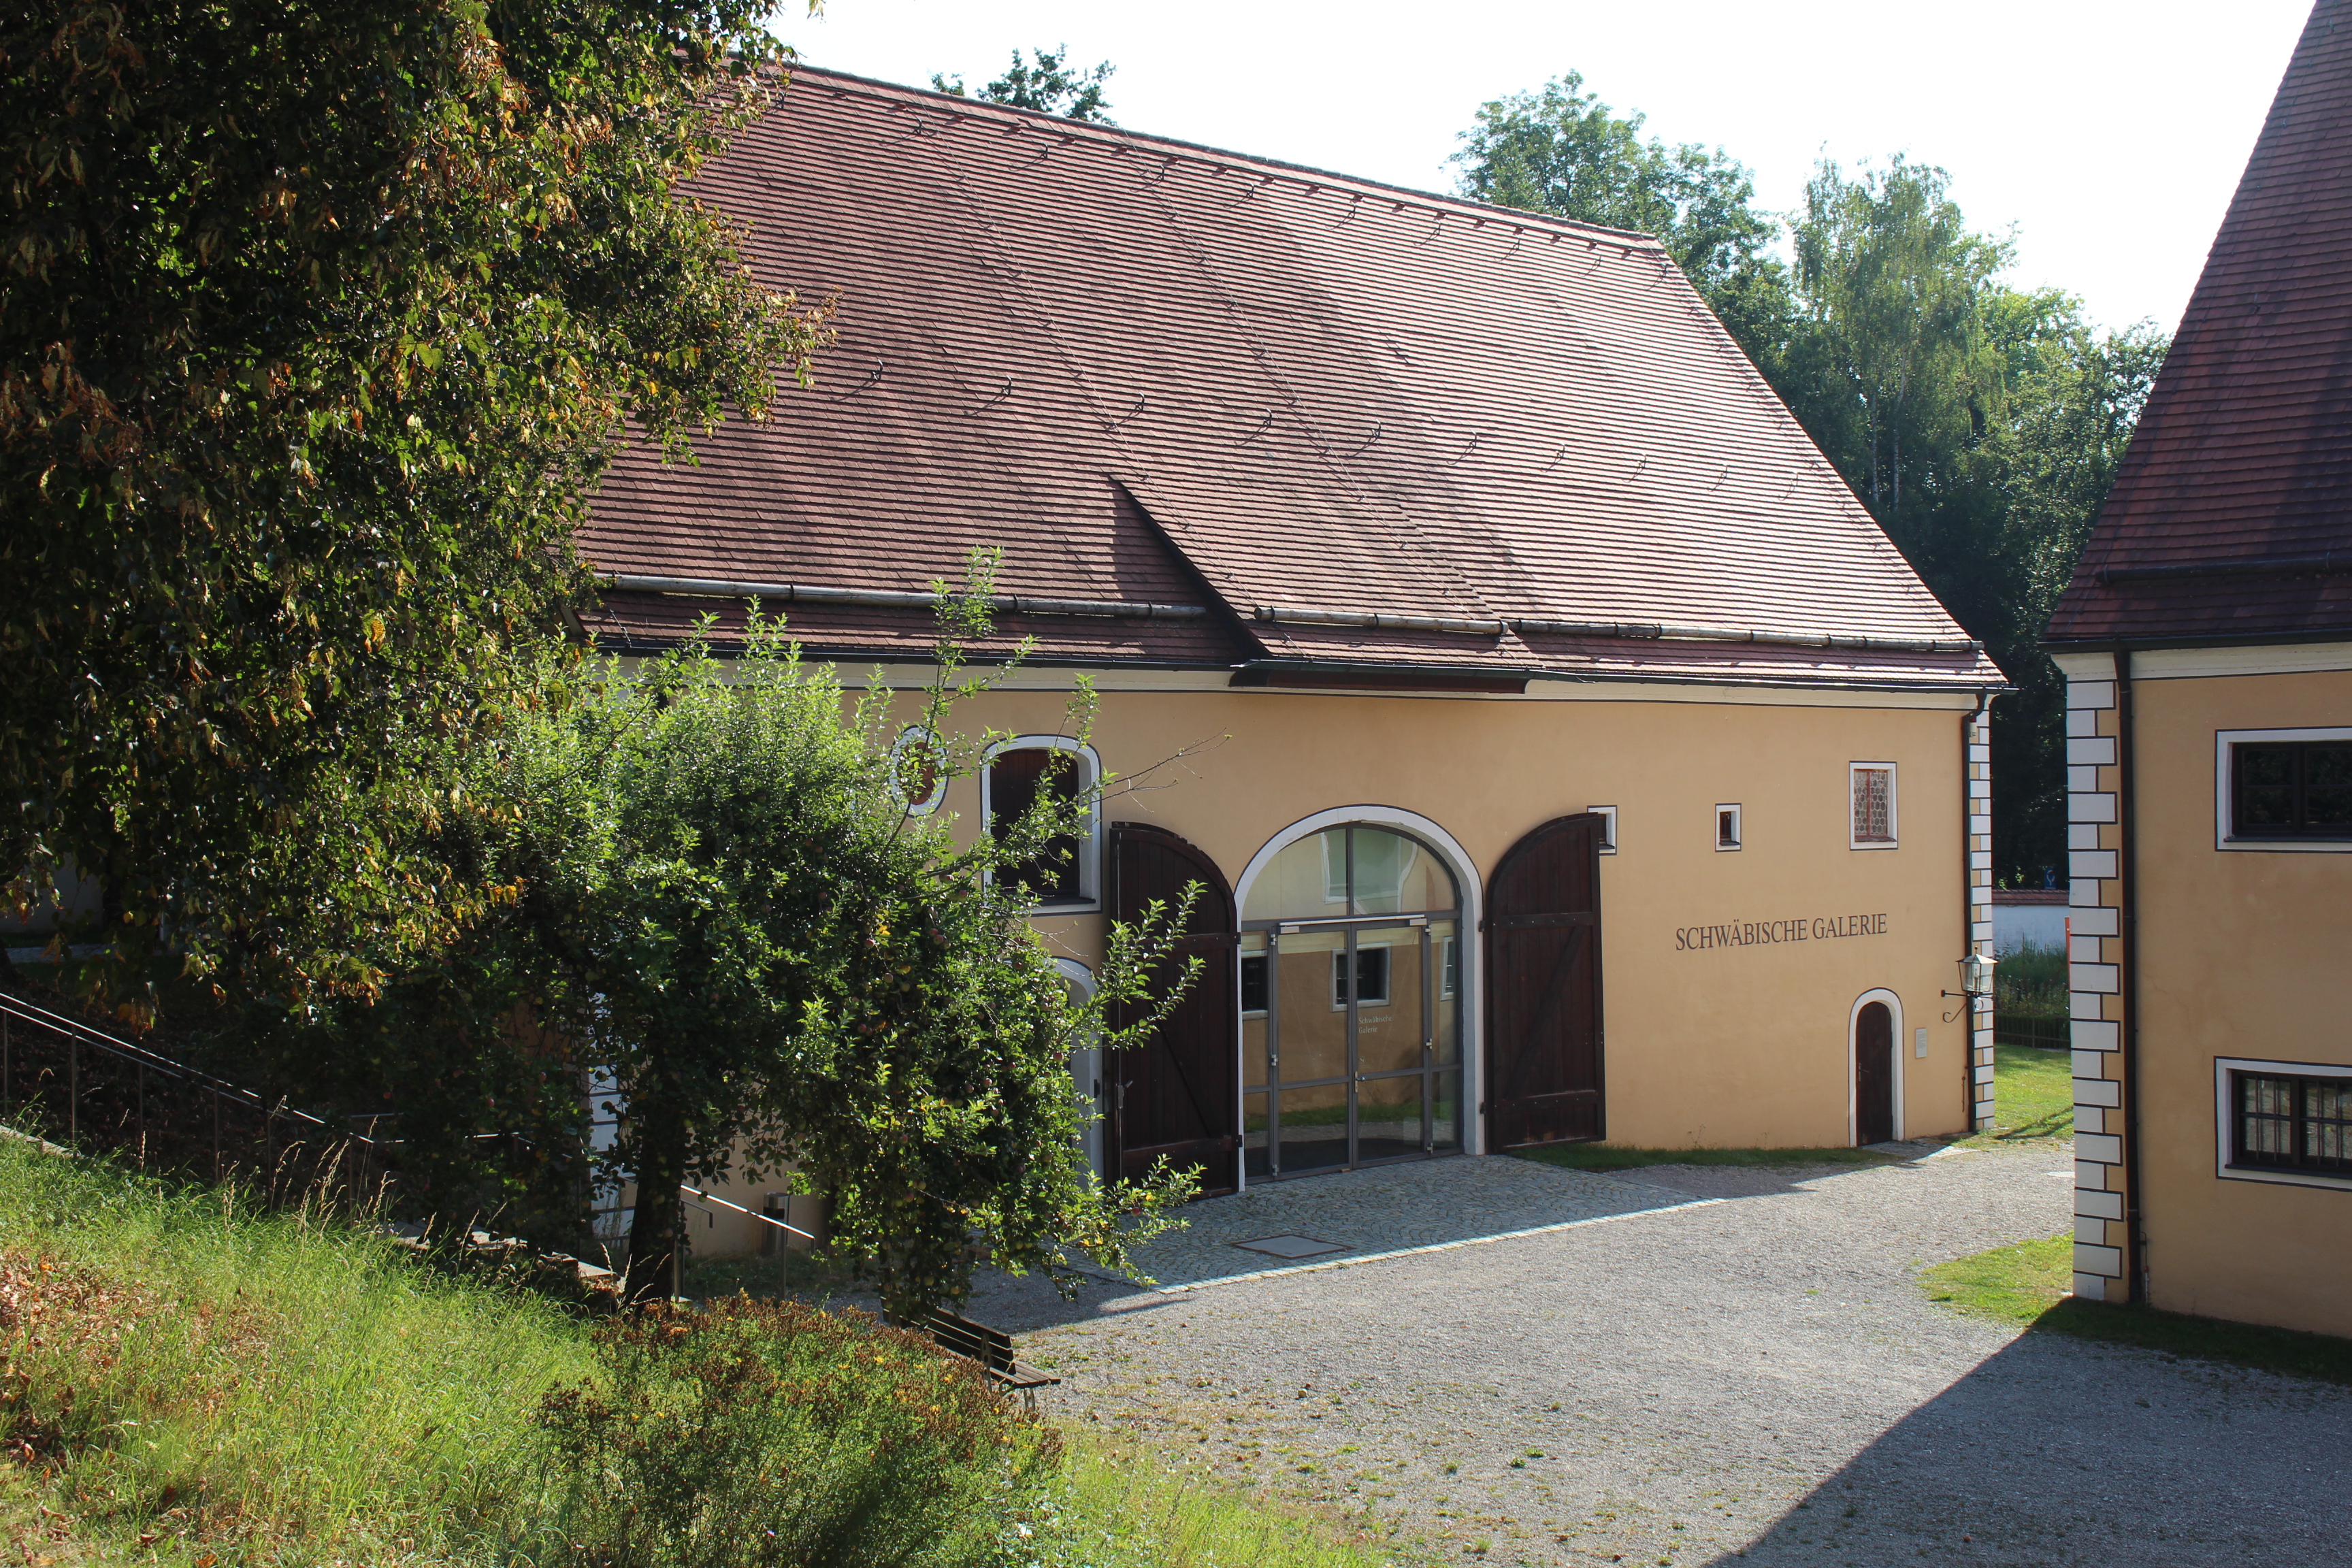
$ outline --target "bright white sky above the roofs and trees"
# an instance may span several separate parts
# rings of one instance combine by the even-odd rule
[[[1477,106],[1578,71],[1668,141],[1722,146],[1788,212],[1818,155],[1952,172],[2020,287],[2122,327],[2180,320],[2307,0],[800,0],[811,66],[974,89],[1011,49],[1110,61],[1131,129],[1449,190]]]

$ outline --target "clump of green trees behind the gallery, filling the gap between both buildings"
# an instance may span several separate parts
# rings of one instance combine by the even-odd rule
[[[1823,162],[1783,226],[1724,150],[1668,146],[1569,73],[1486,103],[1463,195],[1665,240],[1926,585],[2018,686],[1992,710],[1994,867],[2065,865],[2065,691],[2042,628],[2164,360],[2152,327],[2100,334],[2067,294],[2009,287],[1943,169]]]

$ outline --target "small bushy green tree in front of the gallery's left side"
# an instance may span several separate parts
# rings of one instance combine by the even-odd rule
[[[583,1095],[600,1084],[623,1117],[597,1180],[637,1187],[640,1300],[675,1288],[680,1182],[729,1171],[790,1168],[823,1192],[833,1244],[898,1312],[962,1298],[976,1258],[1122,1267],[1192,1178],[1103,1185],[1084,1168],[1070,1053],[1141,1041],[1174,1001],[1150,997],[1155,978],[1181,990],[1197,959],[1171,964],[1183,910],[1164,910],[1110,931],[1094,997],[1061,980],[1023,877],[1070,853],[1089,790],[1040,790],[969,842],[910,809],[924,788],[908,773],[969,776],[1002,738],[953,731],[955,703],[1000,679],[962,672],[985,595],[983,562],[948,599],[915,731],[931,741],[915,748],[887,686],[849,703],[776,621],[755,616],[727,658],[691,642],[626,677],[597,663],[583,701],[468,755],[470,804],[433,835],[494,905],[376,1001],[273,1023],[270,1079],[400,1107],[421,1140],[407,1164],[435,1182],[412,1201],[445,1218],[499,1175],[470,1168],[468,1145],[522,1133],[550,1157],[508,1168],[499,1197],[524,1199],[550,1239],[579,1222]],[[1077,733],[1089,717],[1082,691]]]

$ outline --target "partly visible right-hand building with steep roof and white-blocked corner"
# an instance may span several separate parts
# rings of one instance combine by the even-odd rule
[[[2352,5],[2321,0],[2051,621],[2074,1291],[2352,1333]]]

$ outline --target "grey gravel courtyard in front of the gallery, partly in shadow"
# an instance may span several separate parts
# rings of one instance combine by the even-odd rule
[[[2020,1340],[1912,1284],[1924,1262],[2060,1232],[2063,1147],[1625,1180],[1439,1164],[1268,1192],[1308,1194],[1282,1197],[1298,1206],[1282,1227],[1322,1206],[1336,1229],[1383,1175],[1411,1218],[1395,1241],[1444,1229],[1432,1211],[1475,1215],[1482,1185],[1489,1234],[1545,1204],[1585,1222],[1385,1258],[1364,1255],[1378,1234],[1329,1234],[1357,1248],[1341,1267],[1080,1302],[993,1281],[971,1312],[1068,1378],[1063,1418],[1364,1516],[1406,1559],[2352,1561],[2352,1389]],[[1350,1180],[1369,1192],[1338,1192]],[[1232,1272],[1204,1237],[1263,1234],[1244,1218],[1202,1213],[1192,1251],[1164,1258]]]

